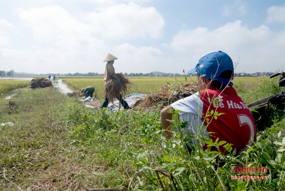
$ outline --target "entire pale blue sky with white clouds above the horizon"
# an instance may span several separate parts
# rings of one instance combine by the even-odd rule
[[[0,0],[0,70],[183,73],[222,50],[236,72],[285,70],[285,1]]]

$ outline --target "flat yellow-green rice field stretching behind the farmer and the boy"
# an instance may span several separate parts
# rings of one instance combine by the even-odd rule
[[[128,77],[133,83],[130,86],[129,94],[131,93],[142,93],[151,94],[157,92],[162,86],[170,83],[172,85],[181,85],[183,83],[196,81],[196,77]],[[248,99],[246,103],[250,103],[254,100],[254,96],[250,96],[256,87],[260,84],[264,77],[235,77],[233,80],[234,88],[237,90],[242,97]],[[82,88],[92,86],[95,88],[94,97],[102,100],[104,98],[104,80],[103,77],[83,77],[83,78],[68,78],[63,77],[67,86],[74,91],[78,91]]]

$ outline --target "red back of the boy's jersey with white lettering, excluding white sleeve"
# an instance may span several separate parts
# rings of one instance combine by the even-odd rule
[[[202,120],[208,132],[214,132],[210,135],[213,142],[219,138],[231,143],[239,153],[256,141],[254,119],[233,87],[203,90],[200,98],[204,104]],[[222,146],[219,149],[222,153],[225,151]]]

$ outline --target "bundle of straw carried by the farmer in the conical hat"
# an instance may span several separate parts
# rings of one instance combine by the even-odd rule
[[[116,78],[111,77],[105,84],[105,96],[109,101],[113,102],[117,97],[122,94],[123,96],[127,94],[129,85],[132,83],[128,78],[125,77],[123,73],[116,73],[117,77],[120,79],[118,81]]]

